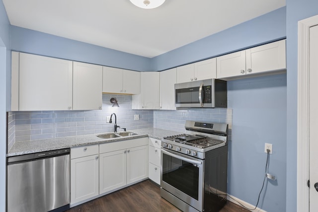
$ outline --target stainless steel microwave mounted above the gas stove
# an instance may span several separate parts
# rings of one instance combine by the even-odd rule
[[[227,81],[206,79],[174,84],[176,107],[228,107]]]

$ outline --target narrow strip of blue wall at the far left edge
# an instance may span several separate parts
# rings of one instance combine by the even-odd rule
[[[10,97],[7,92],[11,72],[9,21],[0,1],[0,211],[5,211],[5,153],[6,153],[6,104]]]

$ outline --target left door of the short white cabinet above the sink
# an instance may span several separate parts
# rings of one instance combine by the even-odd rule
[[[123,70],[112,67],[103,67],[103,92],[123,92]]]

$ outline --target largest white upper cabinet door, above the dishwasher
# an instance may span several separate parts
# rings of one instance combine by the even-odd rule
[[[72,109],[72,61],[19,53],[19,110]]]

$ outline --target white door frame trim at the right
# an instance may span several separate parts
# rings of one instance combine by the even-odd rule
[[[297,211],[309,212],[309,29],[318,15],[298,21]]]

